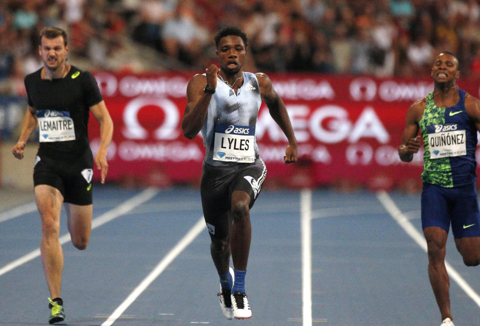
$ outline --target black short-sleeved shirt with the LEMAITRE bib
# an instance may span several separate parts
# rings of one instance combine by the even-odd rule
[[[89,108],[102,100],[98,85],[73,65],[63,78],[41,79],[40,72],[25,77],[28,105],[38,117],[38,156],[74,161],[89,149]]]

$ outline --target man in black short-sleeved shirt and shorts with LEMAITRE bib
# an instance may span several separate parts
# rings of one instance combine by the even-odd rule
[[[66,63],[67,35],[56,27],[40,31],[43,67],[25,77],[28,94],[20,138],[13,155],[23,158],[31,132],[39,126],[38,152],[33,168],[35,200],[41,217],[41,262],[50,295],[49,323],[65,318],[60,295],[63,252],[58,234],[63,202],[67,202],[68,231],[73,245],[83,250],[91,230],[93,157],[88,143],[88,114],[100,122],[100,147],[95,163],[105,181],[106,151],[113,132],[110,114],[93,76]]]

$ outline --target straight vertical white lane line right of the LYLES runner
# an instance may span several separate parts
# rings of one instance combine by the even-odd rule
[[[300,193],[301,300],[303,326],[311,326],[311,190]]]

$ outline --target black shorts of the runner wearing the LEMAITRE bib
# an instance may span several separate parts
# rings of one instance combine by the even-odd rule
[[[70,162],[37,155],[33,168],[33,185],[51,185],[63,195],[63,202],[89,205],[92,203],[92,176],[93,155],[90,148],[77,160]]]

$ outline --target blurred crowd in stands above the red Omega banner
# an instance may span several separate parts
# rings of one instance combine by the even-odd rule
[[[1,0],[0,93],[41,65],[43,26],[67,30],[80,68],[195,71],[227,24],[248,35],[250,71],[425,76],[448,50],[480,78],[478,0]]]

